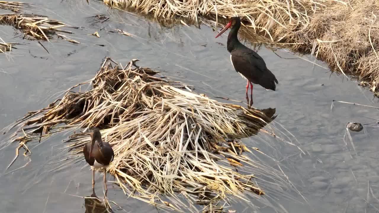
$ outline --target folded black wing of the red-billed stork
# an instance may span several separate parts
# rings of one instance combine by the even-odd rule
[[[266,67],[263,58],[247,47],[235,49],[230,53],[234,69],[252,83],[263,88],[275,90],[278,80]]]

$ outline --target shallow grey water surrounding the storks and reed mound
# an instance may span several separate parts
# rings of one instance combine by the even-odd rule
[[[210,27],[201,25],[198,29],[177,25],[168,28],[133,13],[108,9],[97,1],[91,1],[90,5],[85,0],[30,3],[41,6],[41,9],[30,10],[34,13],[83,27],[74,30],[72,35],[82,44],[59,40],[42,42],[47,53],[35,41],[14,38],[20,35],[19,31],[0,26],[0,37],[5,41],[25,44],[19,45],[10,55],[0,55],[0,128],[26,111],[45,107],[57,98],[57,92],[92,78],[104,56],[122,64],[138,58],[140,66],[164,70],[164,75],[194,85],[199,93],[244,100],[246,82],[230,64],[226,35],[215,39],[216,32]],[[105,14],[109,20],[98,22],[91,18],[98,14]],[[114,28],[133,36],[111,33]],[[95,31],[101,38],[87,35]],[[291,132],[297,141],[292,136],[291,140],[307,152],[303,155],[294,146],[273,138],[263,139],[260,135],[244,139],[245,143],[260,147],[279,160],[283,172],[307,200],[291,190],[289,193],[301,203],[283,197],[278,197],[276,202],[290,213],[376,212],[379,208],[376,199],[379,197],[377,127],[363,125],[364,131],[351,132],[354,147],[348,137],[345,144],[344,134],[347,122],[375,122],[379,113],[373,108],[343,103],[335,103],[331,110],[331,103],[335,99],[377,106],[377,100],[355,82],[330,75],[329,70],[323,68],[326,67],[324,63],[316,61],[319,66],[310,63],[314,59],[309,56],[301,59],[286,50],[274,52],[264,45],[258,53],[276,75],[279,85],[275,92],[255,86],[254,105],[276,108],[275,125],[282,125]],[[0,141],[7,143],[8,136],[0,135]],[[17,171],[13,170],[23,166],[29,158],[21,156],[6,169],[14,157],[16,144],[1,146],[0,212],[86,211],[85,200],[77,196],[91,195],[91,172],[83,161],[57,168],[57,162],[68,156],[61,149],[64,137],[67,135],[54,136],[42,144],[30,146],[31,162]],[[275,166],[275,163],[269,164]],[[108,177],[108,180],[111,179]],[[101,196],[102,177],[99,174],[96,181],[97,193]],[[108,188],[110,199],[128,212],[157,212],[154,207],[137,200],[125,200],[116,185],[109,183]],[[270,207],[257,208],[255,205],[235,205],[232,209],[274,212]]]

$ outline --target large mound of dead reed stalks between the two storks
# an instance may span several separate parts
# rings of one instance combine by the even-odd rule
[[[272,131],[264,128],[274,119],[274,109],[220,103],[197,95],[191,86],[139,67],[135,61],[122,67],[106,58],[94,78],[9,126],[19,127],[11,141],[30,152],[27,145],[32,141],[80,129],[81,133],[73,133],[65,143],[72,154],[83,158],[83,144],[90,140],[88,130],[100,128],[103,141],[110,143],[115,153],[107,170],[124,193],[175,211],[182,211],[185,205],[178,193],[188,200],[186,212],[199,212],[195,204],[205,205],[204,212],[221,212],[221,200],[228,194],[244,199],[240,194],[244,191],[265,200],[255,175],[267,177],[263,183],[267,188],[288,189],[282,172],[246,155],[262,152],[238,141],[258,132],[272,136]],[[85,84],[91,89],[81,91]],[[79,91],[74,92],[75,88]],[[251,171],[237,172],[235,168]],[[162,194],[170,200],[164,201]]]

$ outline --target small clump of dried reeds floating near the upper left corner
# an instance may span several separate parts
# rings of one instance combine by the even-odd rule
[[[47,16],[37,15],[37,14],[2,14],[0,15],[0,24],[11,25],[19,30],[22,30],[25,36],[28,38],[42,39],[50,41],[51,36],[56,36],[56,38],[67,38],[61,33],[72,34],[71,31],[62,30],[63,27],[71,27],[61,21],[51,20]],[[64,38],[63,38],[64,37]],[[79,43],[72,39],[64,39],[72,43]]]

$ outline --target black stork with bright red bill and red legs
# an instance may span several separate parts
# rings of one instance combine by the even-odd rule
[[[246,84],[246,99],[249,104],[249,84],[251,88],[250,105],[253,104],[253,83],[261,85],[266,90],[276,89],[275,83],[278,83],[275,75],[266,67],[263,58],[254,50],[249,49],[238,41],[237,33],[241,27],[241,19],[239,17],[231,17],[227,25],[217,34],[216,38],[224,33],[229,27],[232,27],[228,35],[227,49],[230,52],[230,61],[234,69],[245,79]]]

